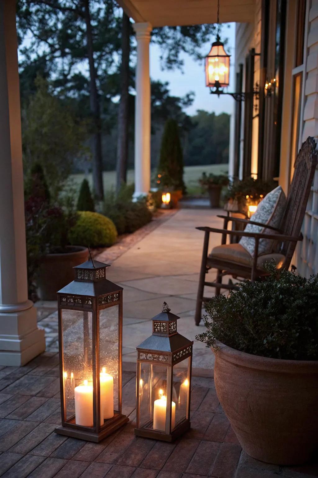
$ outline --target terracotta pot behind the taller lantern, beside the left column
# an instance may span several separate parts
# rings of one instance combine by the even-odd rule
[[[41,300],[56,300],[57,291],[74,280],[73,267],[88,260],[88,249],[67,246],[69,252],[47,254],[38,274],[37,293]]]

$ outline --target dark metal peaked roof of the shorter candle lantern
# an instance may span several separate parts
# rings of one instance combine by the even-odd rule
[[[155,315],[153,333],[137,347],[138,359],[177,363],[192,353],[193,340],[178,333],[177,319],[180,317],[170,312],[164,302],[163,310]],[[155,353],[152,353],[152,352]],[[157,353],[162,352],[162,353]]]

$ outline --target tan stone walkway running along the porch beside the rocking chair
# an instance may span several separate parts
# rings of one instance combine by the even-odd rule
[[[195,340],[195,334],[204,330],[203,324],[197,327],[194,322],[204,236],[195,227],[222,227],[222,219],[216,217],[220,213],[211,209],[179,210],[107,270],[107,278],[124,289],[124,362],[135,363],[135,348],[151,335],[151,318],[161,312],[163,302],[181,317],[177,327],[182,335]],[[210,249],[220,239],[211,235]],[[211,272],[211,280],[214,277],[215,272]],[[213,365],[211,350],[195,342],[193,367],[212,370]]]

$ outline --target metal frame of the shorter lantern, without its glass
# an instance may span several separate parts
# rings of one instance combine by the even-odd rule
[[[192,375],[192,347],[193,340],[183,337],[177,332],[177,319],[180,317],[170,312],[167,304],[164,302],[163,311],[155,315],[153,321],[153,333],[137,348],[137,373],[136,373],[136,428],[134,433],[137,436],[153,438],[173,442],[180,435],[190,428],[190,405],[191,405],[191,375]],[[173,400],[173,368],[179,362],[189,359],[187,366],[187,402],[185,418],[179,420],[171,429],[172,420],[172,400]],[[153,419],[150,417],[145,424],[140,425],[140,378],[141,365],[150,364],[161,365],[166,368],[167,376],[167,394],[166,394],[166,416],[165,431],[154,430]],[[150,399],[152,400],[152,399]]]

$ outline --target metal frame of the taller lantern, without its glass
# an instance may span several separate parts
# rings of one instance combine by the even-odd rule
[[[122,414],[122,331],[123,331],[123,288],[108,281],[105,277],[109,264],[89,261],[73,267],[75,280],[58,291],[58,324],[59,324],[59,364],[60,364],[60,392],[62,425],[54,432],[82,440],[98,443],[106,436],[129,422],[129,418]],[[118,410],[114,411],[113,418],[104,421],[101,425],[100,403],[100,340],[99,340],[99,313],[100,311],[118,305]],[[74,310],[83,312],[85,329],[85,312],[92,313],[92,386],[93,386],[93,426],[84,426],[75,423],[75,413],[66,417],[66,400],[64,393],[64,359],[63,359],[63,330],[62,311]],[[86,316],[86,320],[88,315]],[[83,332],[83,337],[85,330]],[[84,337],[85,340],[85,337]],[[85,353],[85,344],[84,344]]]

